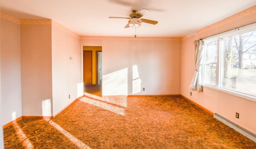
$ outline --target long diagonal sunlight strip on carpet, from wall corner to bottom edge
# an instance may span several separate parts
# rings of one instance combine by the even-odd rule
[[[68,131],[60,127],[60,125],[56,124],[55,122],[50,121],[49,122],[54,128],[56,128],[58,131],[60,131],[62,134],[64,134],[70,141],[72,141],[77,147],[80,149],[91,149],[88,147],[88,145],[84,144],[82,141],[74,137],[74,135],[70,134]]]

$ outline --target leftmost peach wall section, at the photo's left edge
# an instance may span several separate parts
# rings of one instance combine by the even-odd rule
[[[20,24],[1,14],[1,98],[2,124],[22,116]]]

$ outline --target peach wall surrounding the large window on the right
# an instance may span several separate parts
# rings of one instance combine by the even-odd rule
[[[182,38],[181,47],[181,94],[213,113],[218,113],[236,124],[256,133],[256,102],[225,92],[203,87],[203,92],[189,89],[194,75],[194,44],[196,39],[209,37],[236,27],[256,22],[256,6]],[[192,96],[190,96],[192,92]],[[236,112],[240,118],[235,118]]]

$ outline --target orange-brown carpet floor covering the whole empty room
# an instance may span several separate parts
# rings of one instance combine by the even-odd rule
[[[101,97],[94,91],[87,90],[52,120],[22,119],[6,127],[5,148],[256,148],[254,141],[180,96]]]

